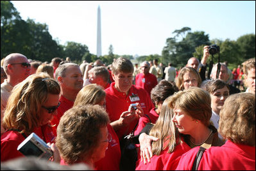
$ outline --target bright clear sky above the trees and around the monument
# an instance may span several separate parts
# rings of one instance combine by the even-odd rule
[[[97,46],[101,8],[102,54],[162,54],[166,39],[183,27],[210,40],[255,34],[255,1],[12,1],[22,19],[45,23],[53,39]]]

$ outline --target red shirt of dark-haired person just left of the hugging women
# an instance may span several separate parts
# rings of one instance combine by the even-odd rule
[[[155,111],[155,108],[151,109],[147,115],[150,118],[152,124],[155,124],[155,122],[157,122],[159,115]],[[139,124],[137,129],[134,131],[134,135],[139,134],[143,127],[146,126],[146,124],[150,123],[148,117],[146,117],[146,115],[144,114],[144,116],[139,119]]]

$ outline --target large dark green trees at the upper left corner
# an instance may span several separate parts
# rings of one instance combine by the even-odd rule
[[[46,24],[22,20],[10,1],[1,1],[1,58],[10,53],[51,61],[62,56],[63,49],[53,40]]]

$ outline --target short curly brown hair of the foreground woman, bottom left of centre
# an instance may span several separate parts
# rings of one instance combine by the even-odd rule
[[[90,159],[101,140],[100,128],[109,123],[99,105],[85,104],[67,110],[57,128],[56,146],[67,164]]]

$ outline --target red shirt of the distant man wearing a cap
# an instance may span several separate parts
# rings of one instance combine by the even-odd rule
[[[137,74],[135,77],[135,85],[143,87],[148,94],[151,94],[151,90],[157,85],[157,77],[153,74]]]

